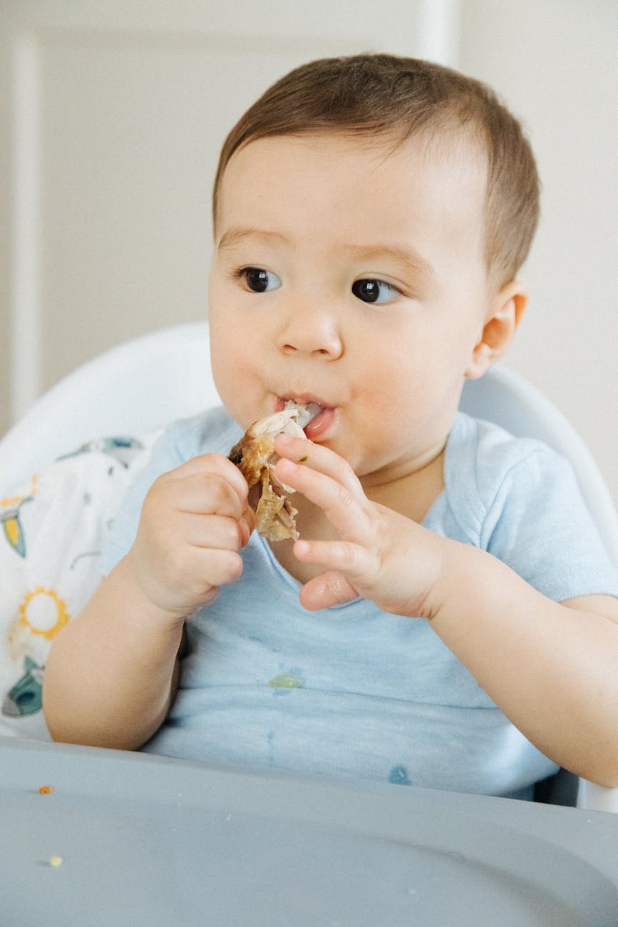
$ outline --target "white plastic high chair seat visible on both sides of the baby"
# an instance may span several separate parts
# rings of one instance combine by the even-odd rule
[[[109,349],[37,400],[0,441],[0,487],[17,487],[60,454],[108,436],[139,435],[220,402],[205,323],[172,326]],[[582,439],[536,387],[504,367],[466,383],[463,412],[540,438],[566,456],[614,562],[618,515]],[[577,805],[618,813],[618,789],[580,780]]]

